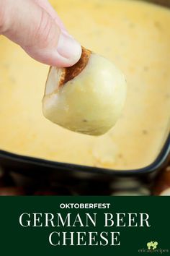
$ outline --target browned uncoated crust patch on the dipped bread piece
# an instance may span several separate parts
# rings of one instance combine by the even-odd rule
[[[63,72],[61,74],[61,79],[60,79],[58,88],[64,85],[66,82],[72,80],[77,75],[79,75],[81,71],[86,67],[86,64],[88,63],[89,57],[91,55],[91,51],[87,50],[84,47],[81,47],[81,48],[82,48],[82,54],[79,61],[71,67],[63,68]]]

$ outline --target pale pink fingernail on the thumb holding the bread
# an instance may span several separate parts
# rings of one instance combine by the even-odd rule
[[[71,63],[75,64],[81,57],[81,45],[65,31],[61,30],[57,46],[58,54],[69,59]]]

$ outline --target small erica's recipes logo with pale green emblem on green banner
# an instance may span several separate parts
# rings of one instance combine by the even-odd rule
[[[161,255],[163,253],[168,253],[169,249],[162,249],[159,247],[158,242],[151,241],[146,243],[146,248],[138,249],[138,252],[140,253],[160,253]]]

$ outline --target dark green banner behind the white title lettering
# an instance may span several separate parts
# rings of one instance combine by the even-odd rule
[[[109,209],[61,209],[61,203],[110,203]],[[170,197],[0,197],[0,253],[1,255],[170,255],[170,218],[169,205]],[[75,206],[75,205],[74,205]],[[75,226],[71,227],[22,227],[19,223],[19,216],[22,213],[29,213],[22,218],[24,225],[27,221],[33,224],[32,213],[42,213],[40,220],[45,223],[44,213],[61,213],[64,218],[66,214],[71,213],[71,225],[76,219],[77,214],[81,216],[81,221],[86,224],[86,213],[97,213],[96,226],[79,226],[77,221]],[[104,213],[112,213],[115,220],[115,225],[104,227]],[[122,223],[126,226],[116,226],[117,213],[125,213]],[[137,213],[135,221],[138,226],[128,226],[129,214]],[[148,223],[151,226],[140,226],[140,213],[149,215]],[[27,218],[28,217],[28,218]],[[57,219],[57,218],[56,218]],[[50,222],[49,222],[50,223]],[[55,222],[56,223],[56,222]],[[40,224],[40,223],[39,223]],[[111,241],[111,232],[120,232],[120,246],[113,245],[60,245],[52,246],[49,242],[49,236],[52,232],[75,232],[74,242],[77,241],[76,232],[86,232],[84,234],[84,242],[89,242],[89,232],[98,232],[94,242],[101,242],[101,232],[107,232],[108,240]],[[105,234],[105,233],[104,233]],[[58,234],[53,235],[53,240],[58,239]],[[60,240],[60,239],[59,239]],[[57,241],[57,240],[56,240]],[[105,240],[104,240],[105,241]],[[102,242],[104,242],[102,240]],[[61,242],[63,240],[61,239]],[[148,250],[148,242],[157,242],[157,247],[153,250]],[[3,253],[2,253],[3,252]]]

